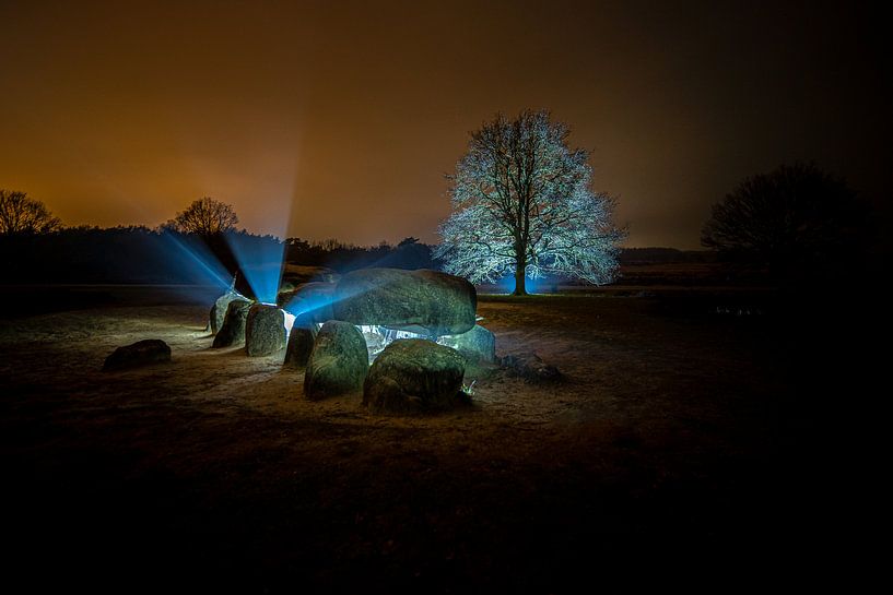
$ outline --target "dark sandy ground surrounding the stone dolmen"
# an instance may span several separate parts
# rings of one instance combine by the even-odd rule
[[[482,298],[501,354],[533,349],[565,379],[475,370],[474,408],[412,419],[369,416],[356,395],[307,403],[281,356],[209,349],[204,307],[143,295],[139,307],[86,300],[2,321],[4,581],[823,584],[847,481],[823,427],[839,389],[822,371],[832,358],[813,357],[825,343],[771,296],[644,296]],[[171,365],[99,371],[115,346],[154,337],[172,345]]]

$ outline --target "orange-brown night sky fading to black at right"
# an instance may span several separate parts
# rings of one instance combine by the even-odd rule
[[[469,131],[547,108],[628,246],[697,248],[710,203],[797,159],[885,192],[885,19],[653,4],[0,0],[0,188],[67,225],[211,195],[251,231],[435,241]]]

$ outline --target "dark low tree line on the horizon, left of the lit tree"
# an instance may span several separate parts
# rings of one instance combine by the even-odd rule
[[[246,230],[240,246],[281,243],[274,236]],[[231,278],[238,264],[224,234],[183,234],[169,228],[69,227],[45,234],[0,235],[2,283],[208,283],[212,276]],[[285,261],[326,266],[339,273],[364,266],[430,269],[431,246],[407,238],[397,246],[360,247],[337,240],[285,241]],[[244,275],[239,275],[239,288]]]

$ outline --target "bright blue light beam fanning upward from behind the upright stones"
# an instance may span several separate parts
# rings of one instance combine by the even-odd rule
[[[271,236],[226,234],[226,241],[258,301],[275,304],[285,243]]]

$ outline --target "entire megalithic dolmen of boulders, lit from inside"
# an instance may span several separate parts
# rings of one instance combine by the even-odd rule
[[[493,333],[477,324],[474,286],[438,271],[362,269],[284,291],[275,305],[225,297],[212,308],[212,330],[242,331],[233,341],[245,341],[248,355],[285,348],[283,366],[305,370],[312,401],[362,391],[374,413],[449,409],[470,403],[467,366],[496,362]],[[285,313],[294,317],[287,335]]]

